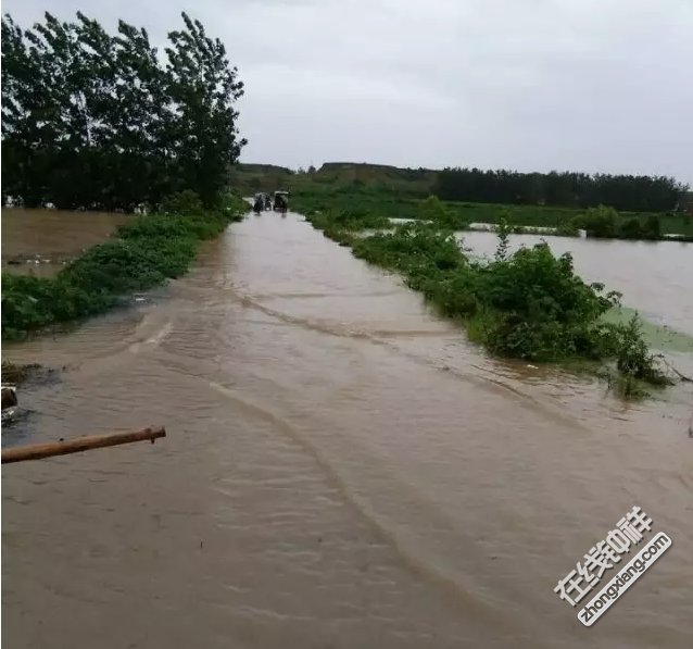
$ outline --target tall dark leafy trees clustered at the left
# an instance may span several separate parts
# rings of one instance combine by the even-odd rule
[[[30,29],[3,17],[3,202],[130,211],[184,189],[217,201],[244,143],[243,84],[224,45],[182,20],[162,57],[123,21],[109,34],[81,13]]]

